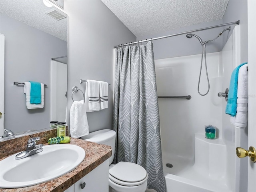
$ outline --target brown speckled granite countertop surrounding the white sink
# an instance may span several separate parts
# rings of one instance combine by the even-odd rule
[[[35,192],[35,191],[47,191],[47,192],[63,192],[72,184],[80,180],[102,162],[110,158],[112,155],[112,148],[107,145],[97,144],[81,139],[71,138],[69,144],[77,145],[82,147],[86,156],[84,161],[77,166],[72,172],[69,172],[63,176],[60,176],[54,180],[37,184],[34,186],[14,188],[14,189],[3,189],[0,188],[1,192]],[[6,158],[6,157],[4,157]],[[0,160],[4,159],[1,158]]]

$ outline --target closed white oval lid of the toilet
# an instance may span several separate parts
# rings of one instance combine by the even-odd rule
[[[119,162],[109,170],[109,174],[123,182],[140,182],[147,177],[147,172],[142,166],[130,162]]]

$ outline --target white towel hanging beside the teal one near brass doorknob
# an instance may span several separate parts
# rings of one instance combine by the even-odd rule
[[[242,129],[248,122],[248,64],[240,67],[237,82],[237,107],[236,116],[230,117],[230,122],[235,128]]]

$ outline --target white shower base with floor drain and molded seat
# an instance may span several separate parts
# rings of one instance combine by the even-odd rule
[[[166,192],[232,192],[226,184],[226,160],[212,157],[214,151],[225,152],[224,143],[221,140],[208,142],[200,134],[196,134],[195,142],[195,162],[162,154]],[[211,164],[213,161],[215,163]],[[166,166],[168,163],[172,168]]]

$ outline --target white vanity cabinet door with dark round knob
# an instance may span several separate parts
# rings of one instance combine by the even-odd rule
[[[108,192],[108,160],[76,182],[74,186],[75,192]]]

